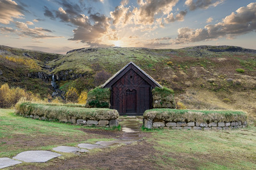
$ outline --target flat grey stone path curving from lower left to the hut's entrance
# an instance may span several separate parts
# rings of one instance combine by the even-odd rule
[[[96,144],[90,143],[80,143],[78,147],[71,146],[58,146],[52,148],[56,152],[65,152],[65,153],[76,153],[76,152],[89,152],[94,148],[107,148],[113,145],[129,145],[133,142],[139,140],[139,127],[138,123],[135,120],[127,120],[123,125],[123,137],[118,141],[99,141]],[[137,126],[136,126],[137,125]],[[130,127],[130,128],[129,128]],[[10,158],[0,158],[0,169],[10,167],[20,163],[44,163],[53,158],[62,156],[56,152],[51,151],[24,151],[20,152],[18,155],[14,156],[13,159]]]

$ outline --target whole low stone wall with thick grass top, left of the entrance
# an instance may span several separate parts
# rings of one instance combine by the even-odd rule
[[[57,120],[81,125],[118,126],[118,112],[107,108],[79,108],[31,102],[15,105],[16,114],[40,120]]]

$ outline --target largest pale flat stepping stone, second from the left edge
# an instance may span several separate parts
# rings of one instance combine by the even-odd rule
[[[25,151],[14,156],[13,159],[18,159],[23,162],[47,162],[58,156],[61,155],[50,151]]]

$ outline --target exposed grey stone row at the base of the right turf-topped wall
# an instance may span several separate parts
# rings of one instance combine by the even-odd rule
[[[164,128],[164,129],[194,129],[194,130],[230,130],[238,128],[246,128],[247,122],[164,122],[154,120],[144,120],[143,125],[145,128]]]

